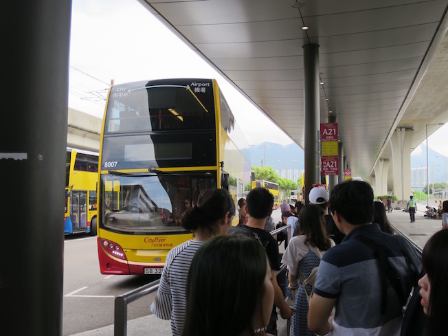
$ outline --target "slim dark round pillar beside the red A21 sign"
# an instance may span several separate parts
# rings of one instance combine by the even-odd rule
[[[318,134],[320,129],[319,103],[319,45],[304,45],[304,138],[305,138],[305,183],[304,201],[314,183],[320,181],[320,155]]]

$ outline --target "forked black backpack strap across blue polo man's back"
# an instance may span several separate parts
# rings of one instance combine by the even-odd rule
[[[396,271],[392,265],[390,265],[388,257],[385,255],[383,249],[365,236],[356,236],[353,238],[370,247],[379,260],[379,274],[381,281],[381,314],[385,313],[387,306],[388,278],[390,280],[390,284],[392,284],[392,287],[395,289],[396,295],[398,295],[401,306],[404,306],[406,304],[407,296],[403,293],[400,273]]]

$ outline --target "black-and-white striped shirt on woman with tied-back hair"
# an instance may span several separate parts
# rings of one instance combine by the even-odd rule
[[[186,315],[186,289],[190,264],[203,242],[188,240],[171,249],[166,256],[159,289],[151,312],[163,320],[171,320],[172,335],[181,335]]]

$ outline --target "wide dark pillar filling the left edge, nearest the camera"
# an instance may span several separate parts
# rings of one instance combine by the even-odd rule
[[[71,0],[2,0],[2,335],[62,335]]]

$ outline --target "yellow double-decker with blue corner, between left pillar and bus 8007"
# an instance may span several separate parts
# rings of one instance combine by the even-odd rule
[[[65,163],[65,234],[96,235],[98,153],[67,148]]]

